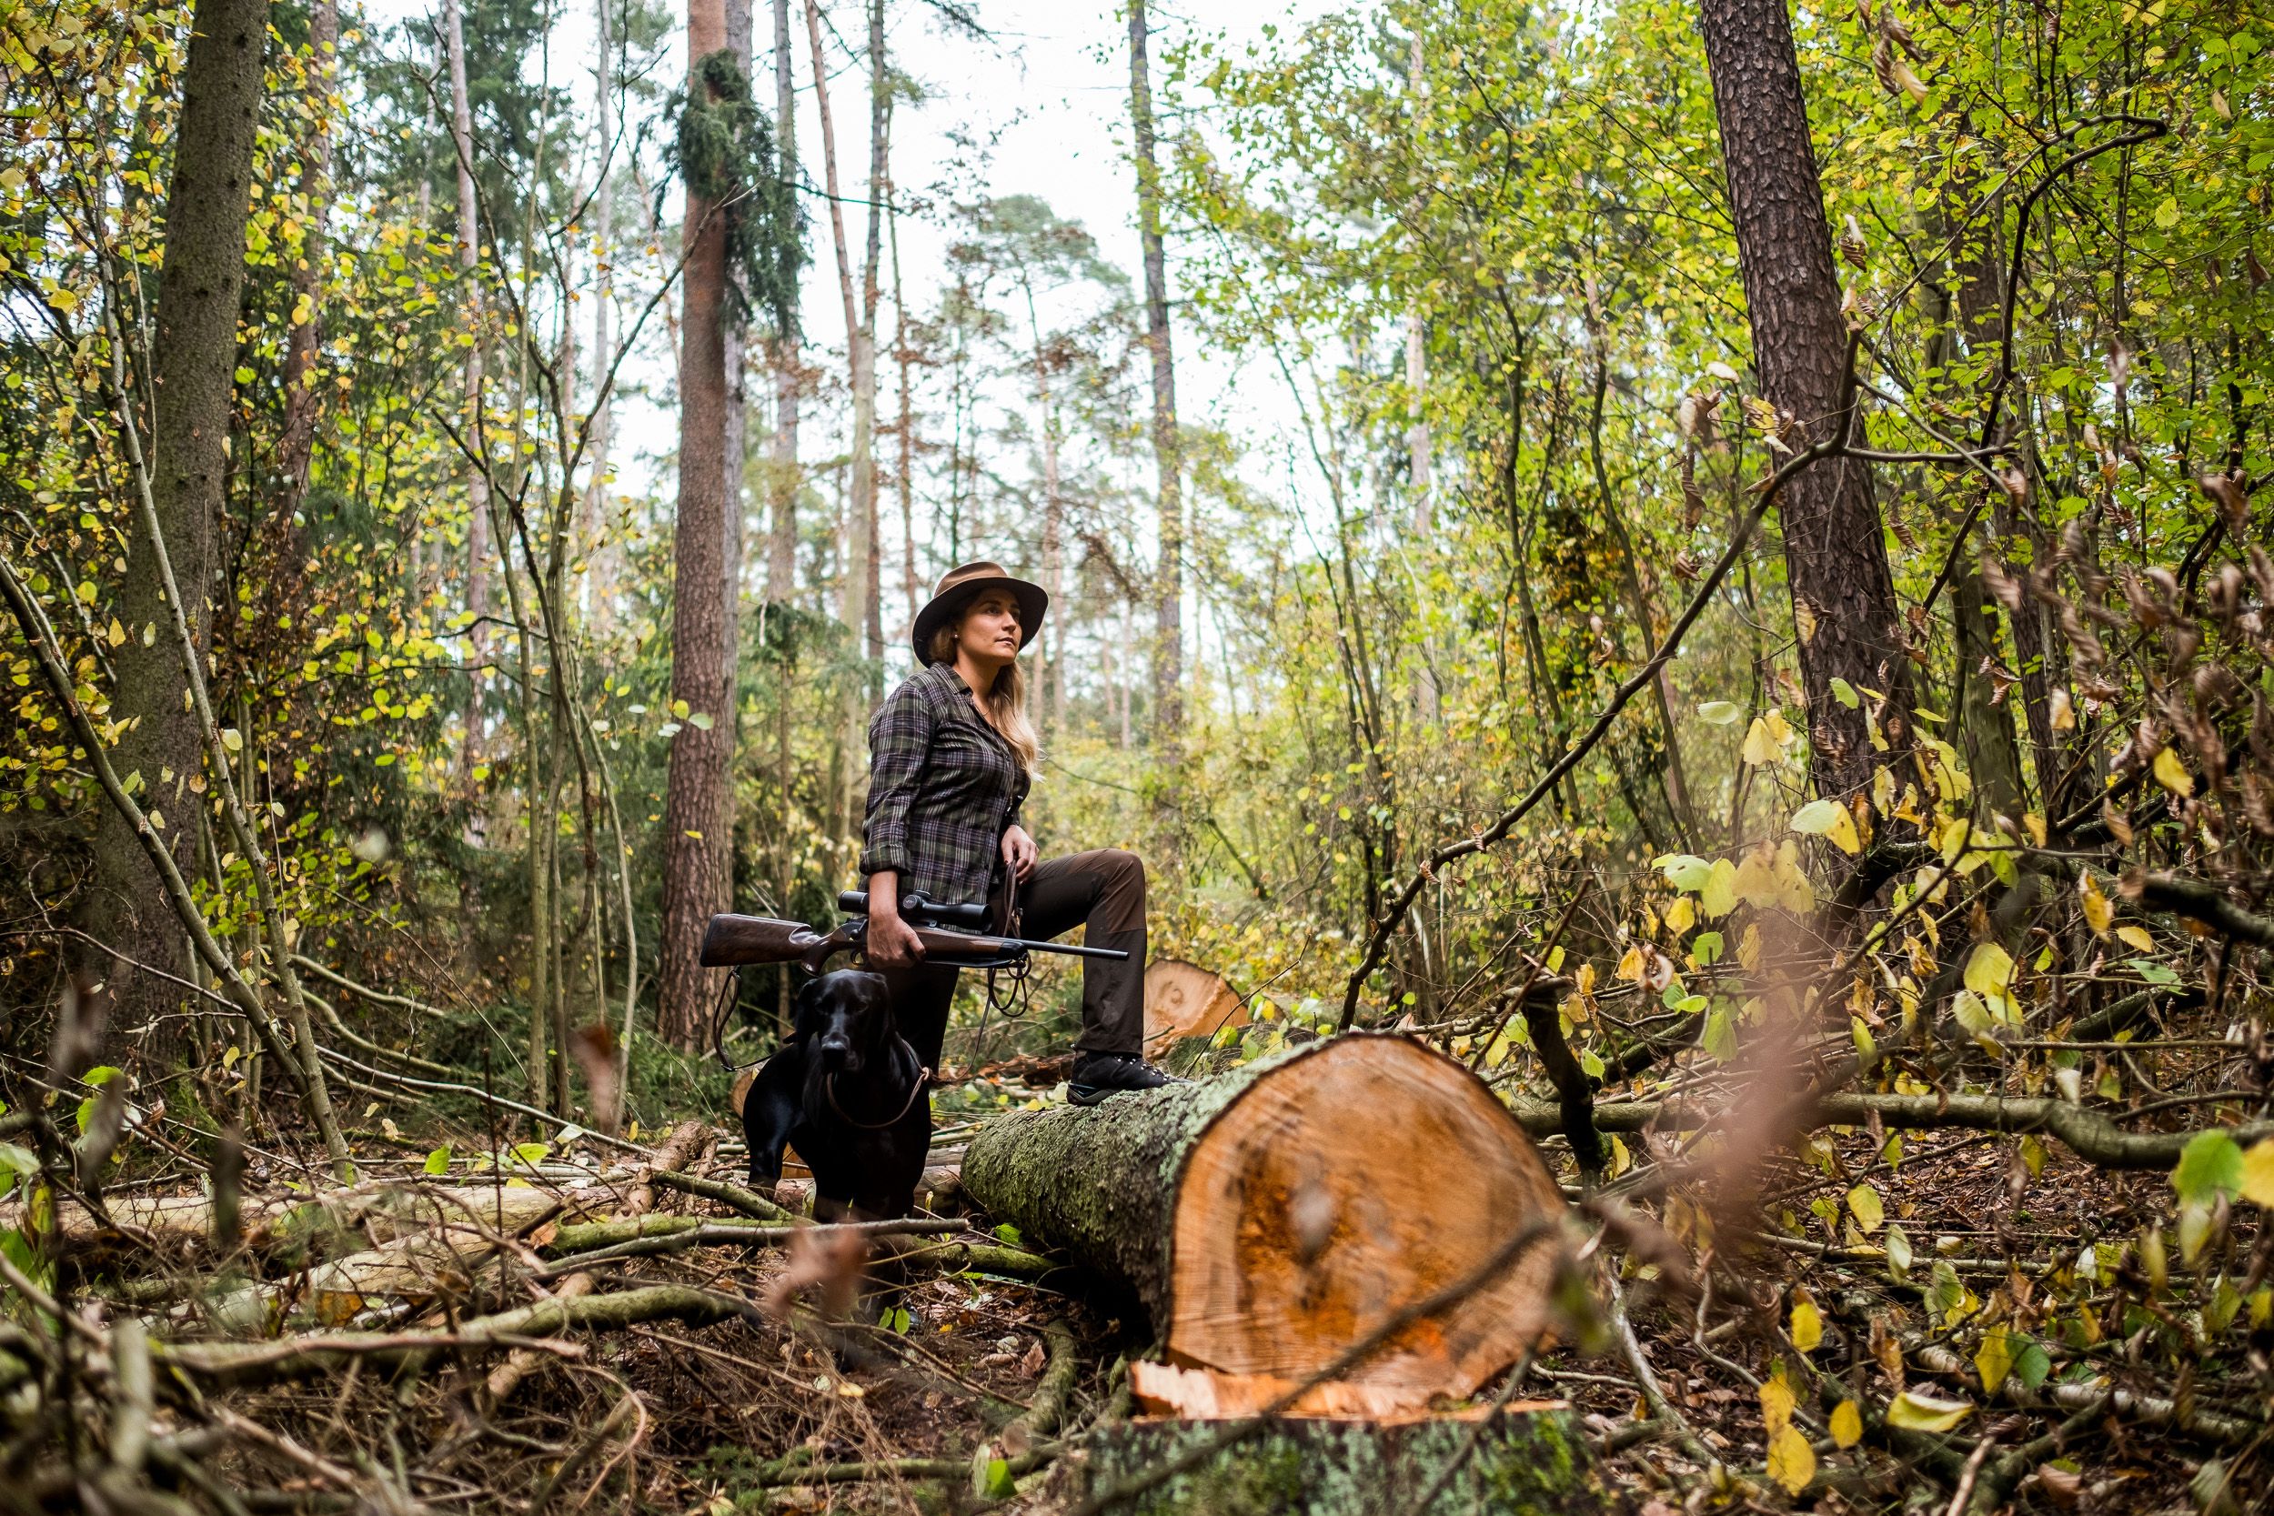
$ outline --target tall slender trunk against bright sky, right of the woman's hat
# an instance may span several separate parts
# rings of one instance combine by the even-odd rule
[[[1137,148],[1137,230],[1144,243],[1144,330],[1153,352],[1153,468],[1160,475],[1160,564],[1153,573],[1153,732],[1176,759],[1185,734],[1185,500],[1176,430],[1176,355],[1169,348],[1169,261],[1160,243],[1160,166],[1153,161],[1151,27],[1130,0],[1130,134]]]

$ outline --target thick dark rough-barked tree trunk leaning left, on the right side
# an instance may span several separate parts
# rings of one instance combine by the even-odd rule
[[[1846,325],[1785,5],[1699,0],[1699,14],[1753,361],[1762,398],[1792,418],[1785,441],[1799,450],[1842,423]],[[1785,486],[1778,509],[1817,789],[1846,796],[1872,782],[1876,755],[1865,718],[1878,702],[1862,695],[1851,709],[1833,695],[1833,680],[1885,693],[1878,716],[1885,739],[1894,748],[1910,739],[1910,659],[1872,470],[1858,459],[1824,459]]]

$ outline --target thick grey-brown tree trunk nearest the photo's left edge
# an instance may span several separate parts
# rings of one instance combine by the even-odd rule
[[[266,43],[268,0],[198,0],[166,191],[166,255],[150,352],[157,395],[150,495],[200,659],[211,648],[214,541],[230,473],[236,311],[246,282]],[[132,318],[121,316],[121,325],[132,325]],[[134,534],[132,573],[118,591],[118,618],[136,636],[111,652],[116,691],[109,714],[123,727],[111,761],[130,775],[130,784],[132,775],[141,775],[143,809],[166,814],[168,848],[182,873],[193,875],[200,798],[189,780],[202,771],[202,734],[189,709],[189,670],[155,568],[157,550],[159,543]],[[89,930],[105,948],[157,971],[143,973],[107,955],[86,964],[91,977],[109,984],[109,1036],[116,1048],[125,1032],[180,1007],[182,993],[161,973],[189,977],[182,923],[118,807],[102,807],[96,823]]]

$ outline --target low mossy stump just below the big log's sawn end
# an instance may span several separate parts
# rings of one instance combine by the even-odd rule
[[[1483,1425],[1480,1425],[1483,1423]],[[1089,1436],[1092,1500],[1223,1434],[1144,1418]],[[1417,1505],[1424,1496],[1426,1502]],[[1617,1509],[1560,1409],[1353,1421],[1287,1416],[1114,1507],[1126,1516],[1562,1516]]]

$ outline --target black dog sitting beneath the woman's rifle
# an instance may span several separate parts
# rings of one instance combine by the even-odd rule
[[[839,968],[798,989],[789,1041],[750,1082],[750,1189],[771,1196],[782,1143],[814,1171],[814,1218],[907,1216],[932,1148],[932,1075],[891,1021],[882,975]]]

